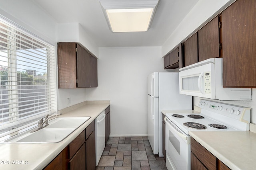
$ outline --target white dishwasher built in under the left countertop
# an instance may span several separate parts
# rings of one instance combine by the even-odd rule
[[[96,141],[96,166],[100,161],[100,157],[105,148],[105,111],[100,113],[100,115],[96,118],[95,123],[95,141]]]

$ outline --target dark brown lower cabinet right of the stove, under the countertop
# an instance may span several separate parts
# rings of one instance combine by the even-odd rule
[[[191,138],[191,170],[230,170],[230,168]]]

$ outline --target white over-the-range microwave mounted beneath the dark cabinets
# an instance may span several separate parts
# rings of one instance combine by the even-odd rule
[[[251,100],[251,88],[223,88],[222,58],[179,69],[180,94],[218,100]]]

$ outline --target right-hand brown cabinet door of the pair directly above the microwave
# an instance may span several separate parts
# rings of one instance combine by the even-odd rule
[[[198,60],[216,57],[220,57],[218,16],[198,31]]]

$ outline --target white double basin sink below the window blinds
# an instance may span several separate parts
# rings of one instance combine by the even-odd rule
[[[35,132],[26,131],[10,137],[3,143],[58,143],[74,132],[90,117],[57,117],[49,125]]]

